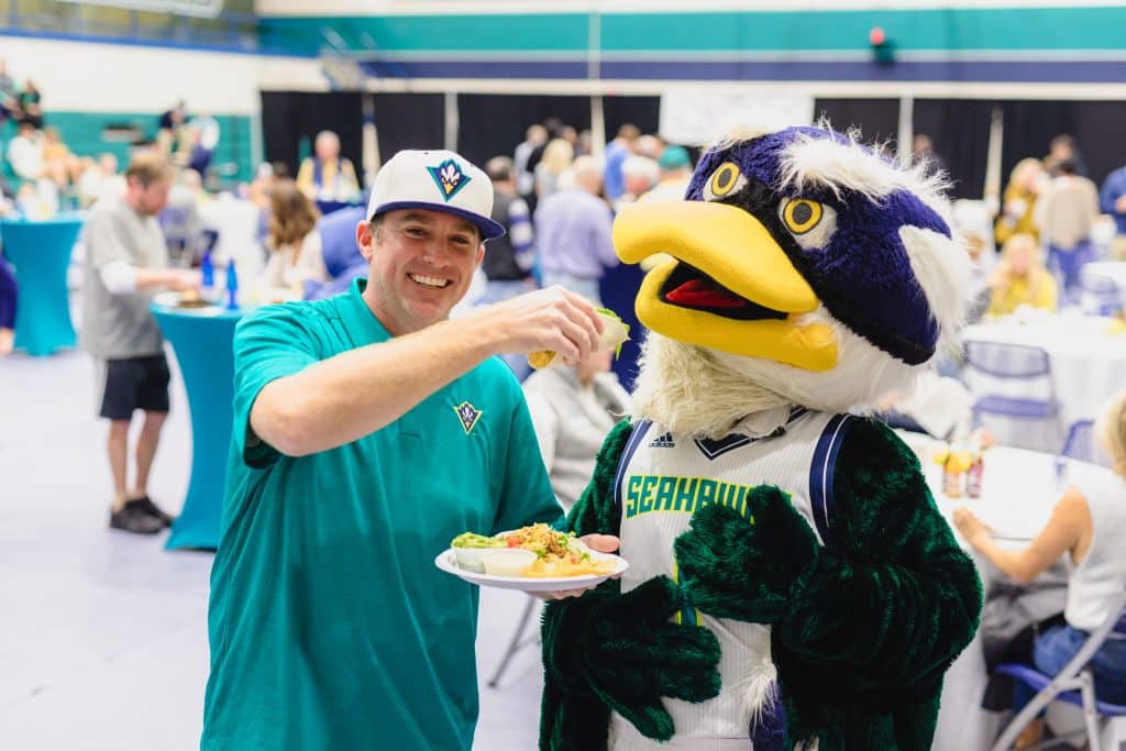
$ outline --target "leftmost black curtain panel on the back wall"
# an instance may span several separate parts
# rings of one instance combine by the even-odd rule
[[[357,92],[262,91],[262,151],[268,162],[283,162],[297,177],[302,136],[310,149],[321,131],[340,136],[340,153],[359,170],[363,109]]]

